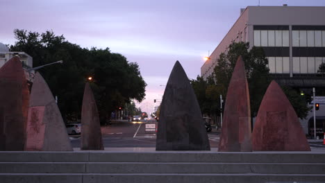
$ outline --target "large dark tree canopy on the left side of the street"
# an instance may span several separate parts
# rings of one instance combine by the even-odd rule
[[[33,67],[63,60],[38,71],[47,81],[53,95],[58,96],[58,106],[65,120],[80,119],[83,89],[88,76],[99,109],[101,121],[110,117],[117,107],[142,101],[145,87],[137,63],[110,49],[84,49],[65,40],[53,31],[45,33],[15,29],[17,42],[10,51],[24,51],[33,57]]]

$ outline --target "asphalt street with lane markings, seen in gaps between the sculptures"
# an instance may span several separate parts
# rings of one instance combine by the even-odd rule
[[[111,125],[101,127],[103,146],[106,148],[154,148],[156,147],[156,129],[153,132],[146,131],[146,124],[156,124],[156,121],[132,122],[127,120],[113,121]],[[208,133],[210,147],[217,148],[219,144],[219,132]],[[70,137],[72,147],[80,148],[80,136]],[[312,148],[325,148],[322,141],[309,141]]]

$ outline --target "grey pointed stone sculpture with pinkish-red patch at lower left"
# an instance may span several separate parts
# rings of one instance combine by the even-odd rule
[[[28,108],[25,150],[73,150],[47,82],[36,73]]]

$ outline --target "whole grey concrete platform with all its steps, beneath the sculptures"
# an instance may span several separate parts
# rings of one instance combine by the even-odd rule
[[[0,152],[0,182],[325,182],[325,148],[251,153],[75,150]]]

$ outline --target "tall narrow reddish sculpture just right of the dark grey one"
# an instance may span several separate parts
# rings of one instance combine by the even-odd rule
[[[251,107],[244,61],[240,56],[228,86],[219,151],[251,151]]]

